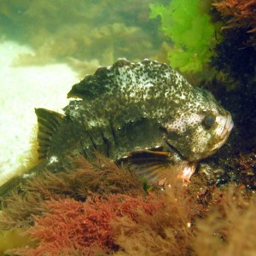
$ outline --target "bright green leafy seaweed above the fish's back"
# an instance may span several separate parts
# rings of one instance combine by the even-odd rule
[[[174,43],[168,52],[172,67],[185,73],[199,72],[210,61],[215,44],[210,15],[200,0],[172,0],[168,5],[151,3],[150,18],[160,16],[160,29]]]

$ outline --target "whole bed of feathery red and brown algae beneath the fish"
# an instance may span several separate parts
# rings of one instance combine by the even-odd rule
[[[252,171],[252,160],[252,154],[241,156],[237,166]],[[129,176],[128,170],[104,161],[106,165],[99,161],[94,166],[82,161],[77,172],[51,174],[41,182],[42,176],[34,177],[23,194],[9,195],[2,229],[4,224],[7,232],[22,226],[31,241],[4,253],[213,256],[256,252],[247,231],[256,229],[255,195],[242,183],[218,187],[198,172],[184,186],[170,169],[168,185],[148,184],[142,191],[142,183],[132,183],[136,177]]]

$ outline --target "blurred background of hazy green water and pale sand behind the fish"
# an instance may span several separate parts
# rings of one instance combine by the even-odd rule
[[[119,57],[163,58],[150,2],[1,1],[0,180],[26,162],[34,108],[61,111],[73,84]]]

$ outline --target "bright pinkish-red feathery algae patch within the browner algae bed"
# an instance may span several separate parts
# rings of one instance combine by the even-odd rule
[[[35,225],[27,231],[37,247],[24,247],[16,253],[20,255],[72,255],[74,251],[94,255],[97,249],[117,250],[114,242],[113,219],[129,216],[136,221],[140,208],[145,215],[152,215],[161,203],[149,195],[147,200],[128,195],[109,195],[108,200],[99,197],[86,202],[64,199],[46,201],[49,212],[35,217]]]

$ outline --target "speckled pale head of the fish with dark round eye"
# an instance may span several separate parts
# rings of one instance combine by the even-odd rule
[[[206,90],[199,90],[191,101],[164,125],[166,143],[184,159],[196,161],[214,154],[228,139],[233,128],[226,111]]]

